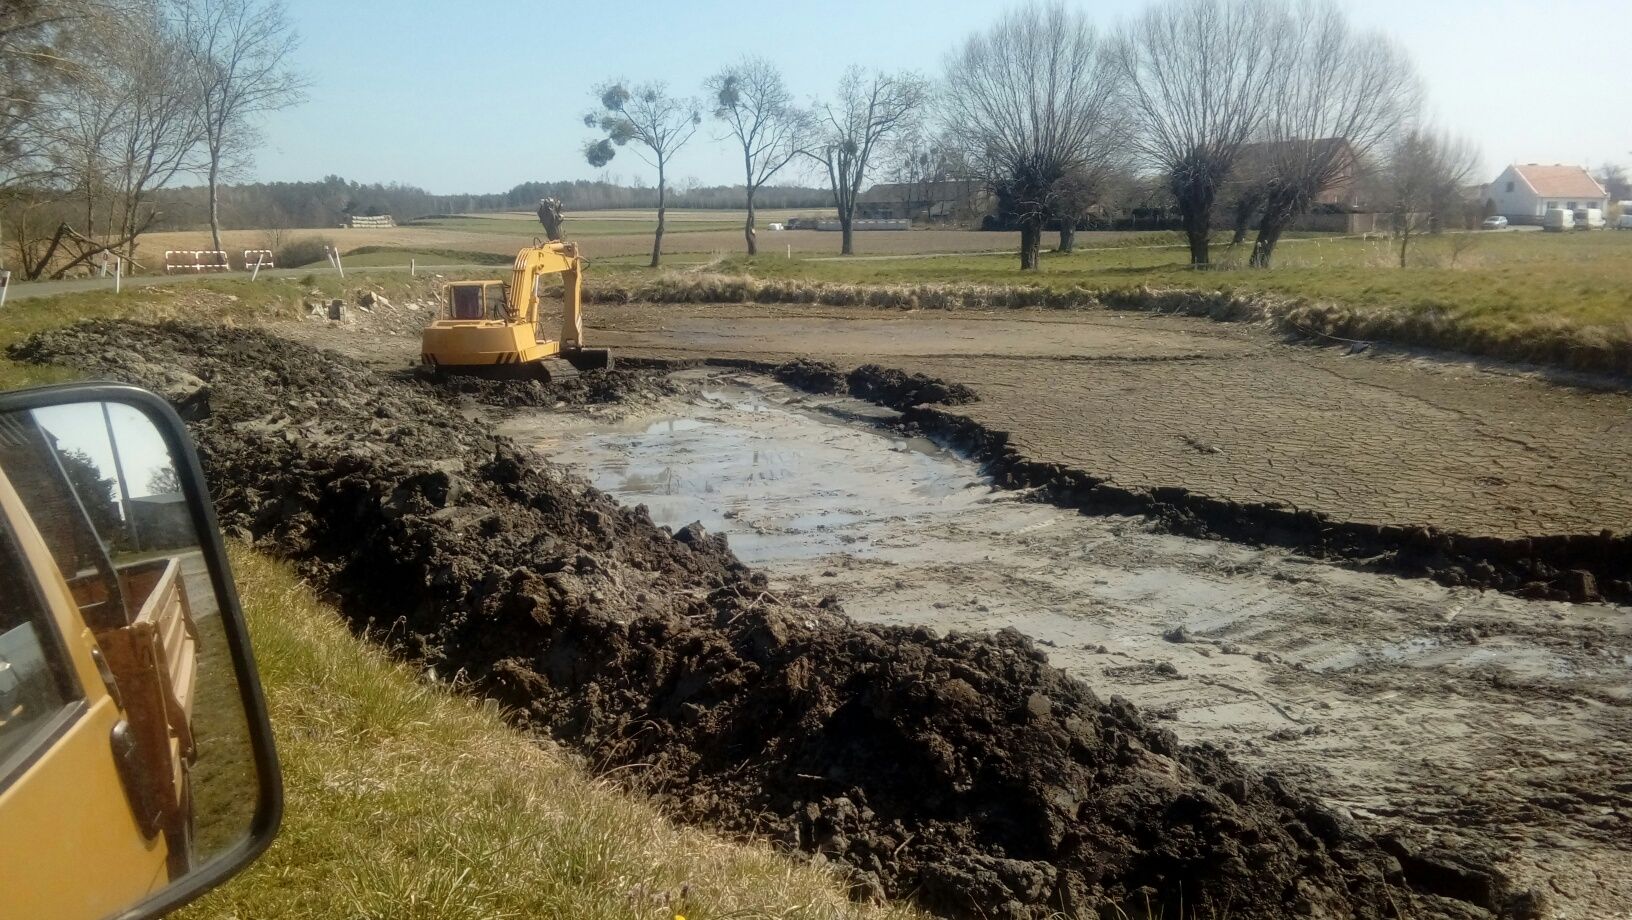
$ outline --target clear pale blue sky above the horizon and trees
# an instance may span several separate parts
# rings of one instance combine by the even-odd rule
[[[831,91],[850,64],[935,77],[1004,8],[987,0],[287,0],[308,101],[264,119],[251,176],[400,181],[439,194],[498,192],[529,179],[651,184],[630,148],[602,171],[581,153],[591,88],[622,77],[702,96],[747,54],[783,69],[795,96]],[[1142,0],[1067,0],[1105,29]],[[1627,0],[1340,0],[1355,23],[1415,57],[1433,119],[1480,150],[1487,181],[1513,161],[1632,163],[1627,54],[1609,36]],[[1594,36],[1603,36],[1594,38]],[[705,109],[707,114],[707,109]],[[676,183],[741,183],[739,160],[705,119]],[[780,181],[814,181],[788,175]]]

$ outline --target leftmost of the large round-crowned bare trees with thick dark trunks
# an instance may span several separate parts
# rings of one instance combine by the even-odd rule
[[[942,121],[1020,223],[1022,269],[1041,268],[1043,225],[1067,176],[1110,158],[1113,98],[1093,26],[1058,0],[1005,13],[947,59]]]

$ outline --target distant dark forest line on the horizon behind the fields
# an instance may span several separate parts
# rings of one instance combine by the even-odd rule
[[[506,192],[431,194],[400,183],[356,183],[326,176],[308,183],[245,183],[224,186],[222,227],[228,230],[336,227],[346,215],[390,214],[398,222],[449,214],[532,209],[542,197],[558,197],[568,212],[658,207],[658,189],[607,181],[521,183]],[[209,223],[209,191],[204,186],[166,188],[153,192],[158,217],[152,230],[193,230]],[[743,186],[671,188],[667,206],[676,209],[743,209]],[[765,186],[754,207],[832,207],[827,189]]]

